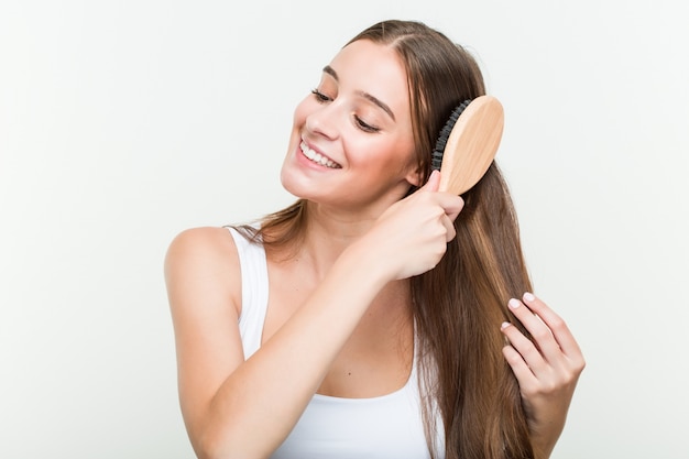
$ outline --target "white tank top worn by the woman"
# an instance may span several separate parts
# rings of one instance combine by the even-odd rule
[[[261,244],[250,243],[232,228],[230,232],[237,244],[242,273],[239,329],[244,358],[248,359],[261,347],[267,310],[267,265]],[[442,442],[438,445],[438,451],[442,453]],[[372,398],[340,398],[315,394],[289,436],[271,459],[429,457],[414,359],[407,383],[391,394]]]

